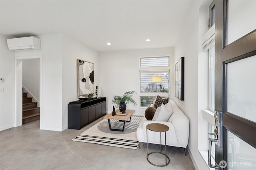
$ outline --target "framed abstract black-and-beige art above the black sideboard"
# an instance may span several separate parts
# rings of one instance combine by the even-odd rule
[[[77,63],[77,95],[94,94],[94,64],[76,60]]]

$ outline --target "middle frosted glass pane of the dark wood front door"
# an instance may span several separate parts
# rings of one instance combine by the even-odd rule
[[[256,55],[227,64],[227,111],[256,122]]]

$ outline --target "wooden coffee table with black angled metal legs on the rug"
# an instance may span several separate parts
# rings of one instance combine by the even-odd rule
[[[120,112],[119,109],[116,109],[116,113]],[[109,113],[107,114],[104,119],[108,119],[108,125],[109,125],[109,130],[110,131],[120,131],[120,132],[123,132],[124,131],[124,126],[123,126],[123,129],[113,129],[111,127],[111,124],[110,124],[110,119],[116,119],[116,120],[119,120],[119,121],[123,121],[124,122],[124,125],[125,125],[125,122],[130,122],[131,121],[131,117],[132,117],[132,114],[134,113],[134,110],[129,110],[129,109],[126,109],[125,112],[127,113],[127,115],[114,115],[112,116],[112,113]],[[130,118],[130,120],[128,120]]]

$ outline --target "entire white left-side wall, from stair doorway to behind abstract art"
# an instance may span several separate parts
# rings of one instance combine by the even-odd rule
[[[0,77],[4,78],[4,83],[1,83],[0,87],[4,87],[4,92],[0,92],[0,130],[14,127],[15,123],[15,59],[22,61],[22,66],[26,67],[26,62],[29,62],[30,57],[42,56],[40,129],[53,131],[67,129],[68,103],[78,100],[76,59],[94,63],[95,88],[98,85],[99,61],[97,51],[62,34],[36,37],[41,39],[40,50],[17,51],[14,53],[7,47],[7,37],[1,35]],[[28,63],[28,65],[31,65],[31,63]]]

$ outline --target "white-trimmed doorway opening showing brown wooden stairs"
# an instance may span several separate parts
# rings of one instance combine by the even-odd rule
[[[28,99],[23,105],[23,101]],[[24,102],[25,102],[24,101]],[[32,104],[32,108],[28,105]],[[30,108],[29,108],[30,107]],[[42,56],[15,58],[15,126],[40,119],[42,126]]]

